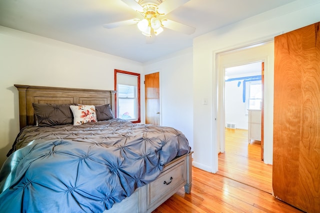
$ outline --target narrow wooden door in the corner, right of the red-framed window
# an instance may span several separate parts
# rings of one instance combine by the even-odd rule
[[[145,123],[160,125],[159,72],[144,75]]]

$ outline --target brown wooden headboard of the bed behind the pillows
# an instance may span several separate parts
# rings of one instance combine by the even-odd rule
[[[29,86],[14,84],[19,92],[20,129],[35,125],[32,103],[47,104],[110,104],[114,114],[113,90],[75,89],[63,87]]]

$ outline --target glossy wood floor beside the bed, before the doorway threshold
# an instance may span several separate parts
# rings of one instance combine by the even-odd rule
[[[183,188],[153,213],[302,213],[271,194],[221,175],[192,168],[192,190]]]

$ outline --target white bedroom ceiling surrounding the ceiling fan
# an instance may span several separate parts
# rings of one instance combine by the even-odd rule
[[[294,0],[189,0],[166,18],[196,28],[167,28],[147,43],[136,24],[102,24],[142,16],[121,0],[0,0],[0,25],[123,58],[146,62],[191,47],[192,39]]]

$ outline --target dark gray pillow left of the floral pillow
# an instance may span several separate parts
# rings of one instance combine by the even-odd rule
[[[32,103],[38,126],[72,124],[70,105],[76,104],[37,104]]]

